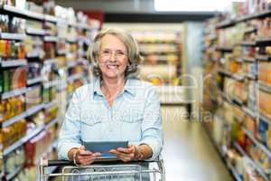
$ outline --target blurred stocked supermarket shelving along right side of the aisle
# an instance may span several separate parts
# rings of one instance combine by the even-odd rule
[[[245,167],[238,161],[240,158],[248,162],[249,170],[257,179],[271,179],[268,171],[271,166],[264,166],[271,158],[270,138],[266,136],[271,130],[271,116],[264,104],[268,98],[261,95],[262,91],[271,93],[270,84],[264,80],[269,76],[263,68],[267,65],[261,65],[271,60],[265,52],[266,46],[271,45],[270,38],[262,34],[262,22],[268,21],[268,15],[270,11],[224,22],[213,18],[206,25],[204,34],[204,73],[210,74],[212,79],[204,85],[202,110],[225,119],[220,125],[215,119],[202,124],[209,134],[220,130],[210,135],[218,141],[218,147],[228,148],[226,155],[230,157],[225,157],[225,165],[236,180],[240,180],[239,176],[250,176],[246,171],[248,167],[240,172],[240,168]],[[236,165],[230,164],[229,160]]]

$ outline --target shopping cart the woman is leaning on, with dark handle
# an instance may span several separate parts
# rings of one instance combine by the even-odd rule
[[[58,167],[57,173],[51,173],[51,167]],[[88,181],[145,181],[165,180],[164,161],[162,157],[154,161],[124,163],[119,160],[97,159],[92,165],[79,167],[67,160],[41,160],[40,181],[51,180],[88,180]]]

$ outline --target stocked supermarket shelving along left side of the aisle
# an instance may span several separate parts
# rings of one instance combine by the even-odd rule
[[[13,113],[12,117],[8,117],[9,119],[3,117],[4,119],[0,124],[1,131],[3,129],[6,129],[5,131],[11,131],[14,125],[19,124],[21,124],[21,127],[24,125],[25,128],[23,127],[23,129],[26,129],[26,124],[28,125],[27,127],[32,128],[27,131],[24,130],[24,134],[14,133],[16,139],[14,139],[12,143],[8,142],[8,145],[4,145],[2,142],[0,143],[0,151],[3,155],[3,163],[0,164],[0,172],[7,180],[12,180],[14,177],[19,176],[24,169],[24,166],[14,166],[11,173],[6,172],[6,168],[4,167],[5,163],[14,158],[14,151],[22,149],[23,152],[27,152],[27,150],[24,150],[27,147],[24,148],[23,145],[32,144],[30,140],[33,142],[37,141],[36,144],[42,144],[42,147],[47,147],[45,151],[42,150],[40,157],[48,157],[52,154],[53,148],[56,147],[55,140],[60,128],[58,125],[61,125],[63,119],[61,112],[65,112],[65,110],[61,109],[66,109],[66,107],[63,106],[66,101],[62,100],[61,97],[64,95],[68,98],[73,90],[89,81],[89,71],[87,71],[88,63],[86,63],[88,62],[86,61],[86,47],[91,42],[94,34],[98,33],[99,27],[97,26],[98,24],[89,24],[93,20],[89,21],[89,19],[85,17],[79,18],[77,16],[70,16],[70,19],[62,19],[49,14],[39,14],[29,10],[19,9],[12,5],[3,5],[0,9],[2,14],[21,18],[26,21],[34,20],[33,22],[42,24],[42,29],[34,27],[33,23],[31,23],[31,26],[24,23],[25,29],[21,30],[21,33],[0,33],[1,40],[22,43],[24,50],[24,54],[20,55],[21,57],[23,56],[23,58],[16,59],[14,56],[17,55],[14,54],[7,58],[6,56],[5,58],[1,57],[1,69],[10,71],[22,68],[28,71],[26,78],[18,76],[22,79],[19,82],[20,84],[11,81],[10,85],[6,86],[6,80],[9,77],[3,79],[3,76],[0,76],[0,107],[2,106],[1,104],[9,101],[12,102],[12,100],[14,101],[15,99],[17,104],[19,99],[23,100],[23,110],[20,110],[20,113]],[[62,14],[65,13],[62,12]],[[85,20],[88,20],[88,22],[82,22]],[[25,45],[27,45],[27,47],[25,47]],[[80,53],[77,52],[78,50]],[[70,54],[72,56],[70,56]],[[70,62],[70,57],[73,62]],[[33,67],[31,65],[33,65]],[[34,70],[32,71],[31,69]],[[13,76],[13,74],[9,76]],[[81,79],[85,81],[80,81]],[[22,87],[21,84],[24,86]],[[62,86],[64,84],[66,86]],[[70,84],[69,89],[68,84]],[[60,86],[62,89],[57,90]],[[70,88],[72,88],[72,90]],[[6,107],[2,106],[0,108],[0,114],[3,114],[3,110],[1,110],[3,108]],[[44,120],[42,120],[44,122],[36,119],[41,115],[44,117]],[[25,121],[25,119],[27,119],[27,121]],[[18,135],[21,136],[18,138]],[[42,137],[48,138],[41,139]],[[36,151],[39,153],[41,150]],[[37,157],[28,157],[27,162],[32,159],[37,159]],[[37,165],[38,163],[34,161],[33,165],[35,164]],[[33,165],[31,167],[33,167]],[[51,172],[53,172],[53,170],[51,170]],[[24,180],[34,179],[33,177],[24,177]]]

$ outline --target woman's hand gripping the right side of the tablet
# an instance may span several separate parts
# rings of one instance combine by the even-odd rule
[[[111,149],[109,153],[116,155],[124,162],[137,160],[139,152],[135,145],[129,145],[128,148]]]

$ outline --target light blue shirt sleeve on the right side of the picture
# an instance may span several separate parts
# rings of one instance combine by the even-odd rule
[[[151,86],[146,93],[144,119],[142,122],[142,137],[139,144],[146,144],[152,148],[152,161],[158,157],[164,145],[164,134],[162,129],[162,116],[158,94]]]

